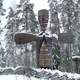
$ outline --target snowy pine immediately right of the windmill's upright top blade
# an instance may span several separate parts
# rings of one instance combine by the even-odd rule
[[[59,34],[60,25],[59,25],[59,4],[57,0],[48,0],[50,6],[50,30],[55,34]]]

